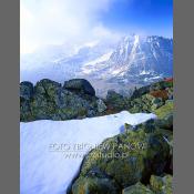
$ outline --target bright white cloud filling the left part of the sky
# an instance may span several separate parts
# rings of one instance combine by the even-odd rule
[[[47,44],[114,35],[101,13],[115,0],[21,0],[21,53]]]

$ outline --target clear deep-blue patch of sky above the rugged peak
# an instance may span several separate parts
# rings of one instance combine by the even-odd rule
[[[173,37],[173,0],[115,1],[101,20],[113,30]]]

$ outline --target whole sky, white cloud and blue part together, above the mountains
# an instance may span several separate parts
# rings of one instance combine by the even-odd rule
[[[21,0],[21,53],[125,34],[173,37],[173,0]]]

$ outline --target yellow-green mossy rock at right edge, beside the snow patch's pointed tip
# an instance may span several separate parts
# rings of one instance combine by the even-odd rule
[[[163,106],[156,109],[154,113],[159,116],[159,119],[164,119],[167,115],[173,114],[174,105],[173,101],[167,101]]]

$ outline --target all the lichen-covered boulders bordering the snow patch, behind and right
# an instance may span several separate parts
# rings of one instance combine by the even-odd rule
[[[123,123],[124,132],[106,139],[83,160],[69,186],[70,194],[172,194],[173,80],[135,89],[124,98],[109,91],[95,96],[83,79],[63,85],[41,80],[34,86],[20,83],[21,121],[71,120],[127,110],[154,112],[156,120],[136,126]]]

